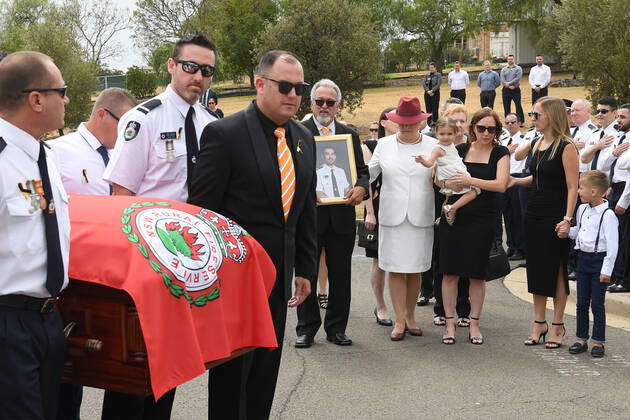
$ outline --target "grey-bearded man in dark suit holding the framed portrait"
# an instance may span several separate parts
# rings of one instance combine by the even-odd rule
[[[328,306],[324,318],[326,339],[340,346],[349,346],[352,340],[346,335],[346,326],[350,314],[350,267],[356,236],[354,206],[366,198],[370,175],[363,162],[359,135],[335,120],[340,101],[341,90],[332,80],[322,79],[315,83],[311,89],[313,116],[303,124],[314,136],[352,135],[357,181],[345,194],[346,204],[317,207],[317,255],[321,255],[322,249],[326,251],[328,267]],[[316,290],[315,280],[311,289]],[[319,305],[313,293],[298,308],[295,347],[310,347],[321,325]]]

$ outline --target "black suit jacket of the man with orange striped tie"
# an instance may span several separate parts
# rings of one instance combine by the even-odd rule
[[[285,301],[292,294],[294,267],[296,276],[313,280],[318,261],[315,144],[302,125],[288,124],[296,187],[286,222],[277,157],[269,150],[253,104],[203,130],[188,199],[236,221],[260,242],[276,267],[274,292],[283,287]]]

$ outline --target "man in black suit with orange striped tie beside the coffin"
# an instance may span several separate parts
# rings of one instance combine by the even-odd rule
[[[213,420],[269,417],[287,302],[300,305],[317,279],[315,145],[291,119],[308,85],[302,65],[286,51],[266,53],[258,74],[256,100],[204,129],[188,201],[236,221],[271,257],[276,282],[269,308],[278,348],[256,349],[210,370]],[[291,159],[284,160],[287,152]]]

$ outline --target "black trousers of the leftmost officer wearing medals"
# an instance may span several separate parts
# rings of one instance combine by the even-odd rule
[[[0,419],[56,420],[65,343],[56,309],[0,306]]]

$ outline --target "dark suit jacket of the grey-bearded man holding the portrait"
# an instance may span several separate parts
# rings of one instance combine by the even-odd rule
[[[309,129],[313,136],[319,136],[319,130],[313,121],[313,117],[303,122],[304,126]],[[370,184],[370,173],[368,167],[363,161],[363,152],[361,151],[361,140],[356,131],[341,124],[335,120],[335,134],[351,134],[352,148],[354,150],[354,161],[357,170],[357,182],[355,187],[363,187],[368,191]],[[323,234],[332,227],[335,233],[354,233],[356,231],[356,214],[354,206],[345,204],[317,206],[317,230],[319,234]]]

